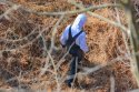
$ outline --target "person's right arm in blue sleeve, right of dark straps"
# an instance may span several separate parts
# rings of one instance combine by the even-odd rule
[[[89,51],[87,42],[86,42],[86,33],[85,32],[80,35],[80,49],[83,52],[88,52]]]

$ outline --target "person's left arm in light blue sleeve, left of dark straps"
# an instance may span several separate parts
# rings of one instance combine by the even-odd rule
[[[69,30],[69,25],[64,29],[61,38],[60,38],[60,42],[61,42],[61,45],[64,48],[66,47],[66,41],[68,39],[68,30]]]

